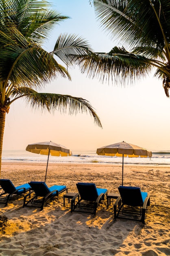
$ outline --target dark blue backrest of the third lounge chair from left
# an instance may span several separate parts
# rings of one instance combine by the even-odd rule
[[[96,185],[94,183],[78,182],[76,186],[81,199],[86,201],[96,201],[96,199],[98,198]]]

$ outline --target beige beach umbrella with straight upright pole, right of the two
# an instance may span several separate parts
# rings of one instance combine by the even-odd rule
[[[124,157],[151,157],[152,152],[146,148],[126,143],[125,141],[97,148],[98,155],[122,157],[122,186],[123,186],[123,161]]]

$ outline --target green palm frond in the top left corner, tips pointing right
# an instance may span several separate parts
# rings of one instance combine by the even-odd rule
[[[7,0],[1,1],[1,22],[15,25],[25,38],[42,44],[50,36],[56,25],[68,16],[50,9],[47,1],[37,0]]]

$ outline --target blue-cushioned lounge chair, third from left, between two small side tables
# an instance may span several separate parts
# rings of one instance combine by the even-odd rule
[[[87,212],[96,215],[96,210],[101,200],[105,199],[107,189],[98,189],[94,183],[77,183],[76,184],[80,198],[75,204],[75,198],[71,200],[71,212]],[[77,208],[76,208],[77,207]]]

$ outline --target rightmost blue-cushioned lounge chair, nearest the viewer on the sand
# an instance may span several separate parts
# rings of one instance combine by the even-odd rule
[[[144,223],[146,206],[150,205],[150,195],[133,186],[120,186],[118,190],[120,197],[113,206],[114,218],[140,220]]]

